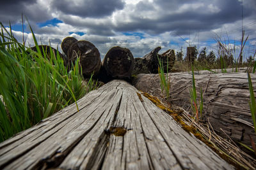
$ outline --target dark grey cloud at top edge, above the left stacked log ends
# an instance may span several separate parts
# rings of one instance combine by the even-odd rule
[[[120,0],[52,1],[52,6],[62,13],[79,17],[105,17],[115,10],[122,10],[124,2]]]

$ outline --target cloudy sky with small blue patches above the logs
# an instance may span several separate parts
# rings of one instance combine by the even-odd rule
[[[243,12],[242,12],[243,11]],[[216,50],[216,39],[239,48],[242,25],[245,57],[256,50],[255,0],[4,0],[0,22],[9,22],[22,41],[21,13],[38,41],[56,48],[67,36],[91,41],[103,58],[111,46],[142,57],[156,46],[186,53],[189,45]],[[243,16],[243,17],[242,17]],[[243,20],[242,20],[243,18]],[[33,45],[26,27],[26,45]],[[60,48],[60,47],[59,47]],[[60,50],[61,51],[61,50]]]

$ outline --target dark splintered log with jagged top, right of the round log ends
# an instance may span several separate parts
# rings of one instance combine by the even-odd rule
[[[135,58],[134,70],[132,74],[158,73],[159,60],[163,62],[164,71],[167,71],[167,63],[168,71],[170,71],[175,62],[174,50],[167,50],[162,54],[158,54],[159,50],[161,50],[161,46],[157,46],[154,50],[142,58]]]

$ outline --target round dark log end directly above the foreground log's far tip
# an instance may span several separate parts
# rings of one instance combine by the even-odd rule
[[[104,57],[103,67],[112,78],[131,78],[134,58],[128,48],[114,46]]]

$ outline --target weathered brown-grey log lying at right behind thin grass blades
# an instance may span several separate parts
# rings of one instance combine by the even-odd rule
[[[202,71],[202,73],[205,72],[207,71]],[[251,74],[251,76],[254,92],[256,92],[256,75]],[[189,109],[191,106],[189,95],[189,89],[192,88],[191,74],[171,73],[169,78],[171,103]],[[252,146],[249,136],[256,141],[256,135],[249,106],[250,92],[247,73],[195,73],[195,82],[198,103],[200,88],[204,93],[205,122],[209,117],[214,131],[218,132],[221,137],[230,137],[236,142]],[[139,74],[134,80],[134,86],[154,96],[161,94],[158,74]]]

